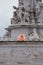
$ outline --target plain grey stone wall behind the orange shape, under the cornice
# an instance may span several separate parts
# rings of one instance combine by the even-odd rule
[[[38,29],[37,28],[36,28],[36,30],[37,30],[38,35],[40,36],[40,40],[43,40],[43,28],[38,28]],[[34,28],[25,28],[25,27],[13,29],[11,32],[11,40],[17,41],[19,35],[23,33],[26,37],[26,41],[28,41],[29,35],[33,33],[33,29]]]

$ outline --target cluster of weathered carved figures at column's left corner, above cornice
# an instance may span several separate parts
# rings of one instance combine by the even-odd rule
[[[29,22],[29,11],[27,11],[23,4],[21,4],[21,6],[19,6],[18,8],[13,6],[14,9],[16,9],[16,11],[14,12],[14,15],[13,15],[13,21],[17,22],[18,20],[18,23],[19,21],[20,22]]]

